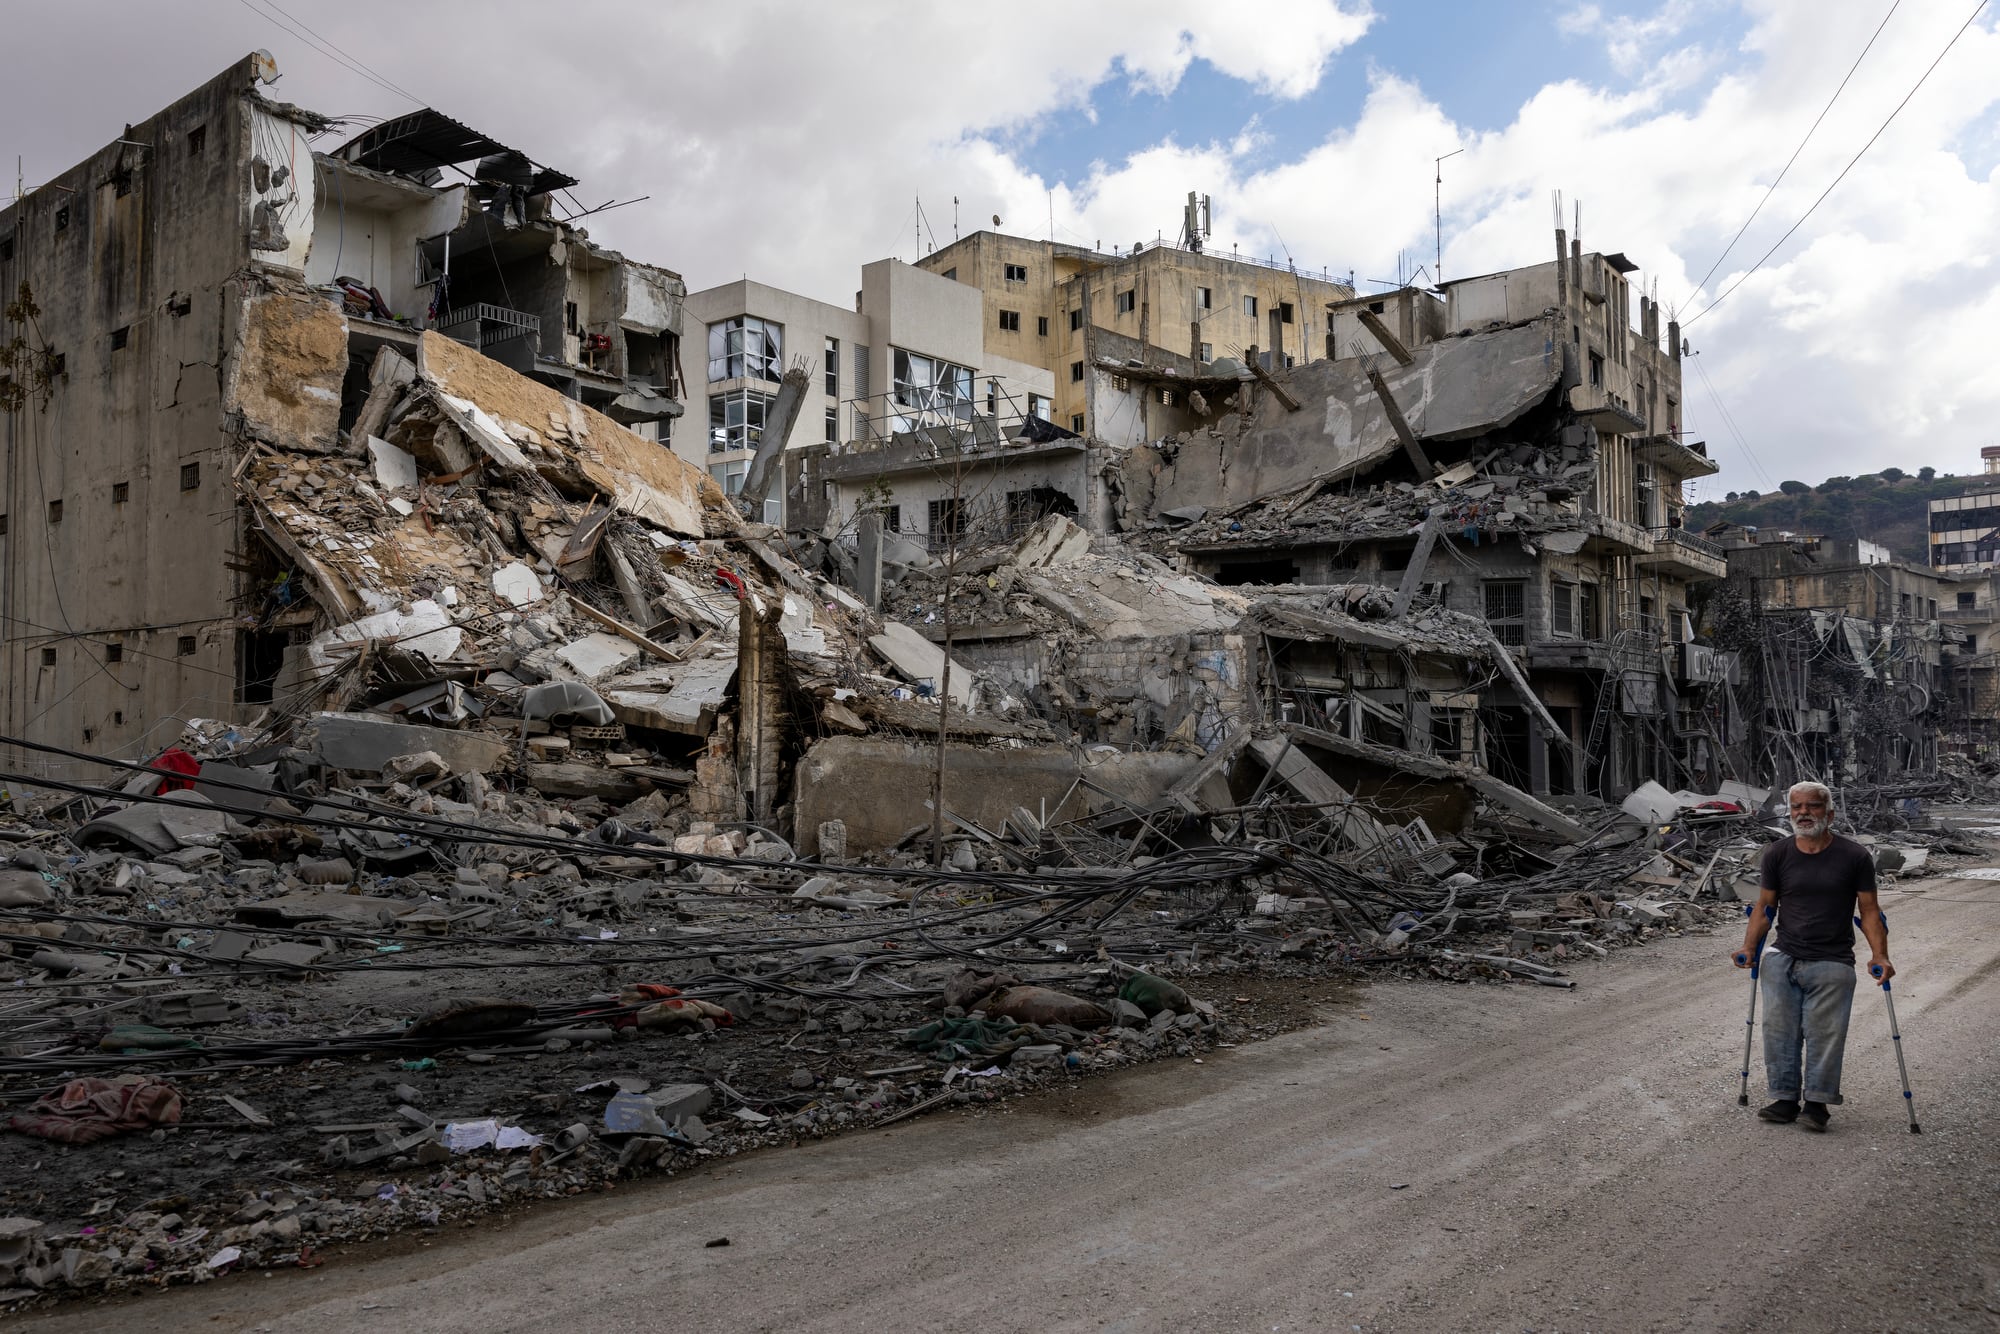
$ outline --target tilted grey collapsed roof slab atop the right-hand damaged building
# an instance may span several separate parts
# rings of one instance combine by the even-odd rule
[[[1536,318],[1424,344],[1408,366],[1376,370],[1418,440],[1468,440],[1510,426],[1556,392],[1562,342],[1554,318]],[[1284,386],[1298,412],[1260,396],[1234,434],[1200,430],[1172,450],[1126,454],[1126,496],[1134,508],[1146,518],[1194,504],[1230,510],[1402,456],[1396,428],[1368,380],[1368,358],[1310,362],[1292,370]]]

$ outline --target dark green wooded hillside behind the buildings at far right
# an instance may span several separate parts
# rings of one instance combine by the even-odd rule
[[[1884,468],[1880,474],[1860,478],[1826,478],[1818,486],[1782,482],[1774,492],[1730,492],[1724,500],[1688,506],[1688,528],[1700,532],[1716,520],[1728,520],[1828,538],[1868,538],[1888,546],[1902,560],[1924,564],[1930,558],[1928,504],[1962,496],[1980,482],[1986,478],[1938,476],[1932,468],[1916,476]]]

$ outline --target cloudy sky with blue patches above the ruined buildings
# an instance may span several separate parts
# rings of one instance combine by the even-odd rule
[[[0,150],[32,184],[268,48],[286,100],[428,102],[580,176],[590,206],[650,196],[586,226],[690,288],[748,274],[842,304],[864,262],[996,214],[1066,242],[1172,238],[1188,190],[1214,198],[1220,248],[1364,290],[1430,278],[1434,160],[1462,150],[1444,276],[1544,260],[1554,194],[1580,206],[1586,248],[1626,252],[1688,326],[1686,424],[1722,494],[1974,472],[2000,444],[2000,6],[1974,10],[68,0],[10,28]]]

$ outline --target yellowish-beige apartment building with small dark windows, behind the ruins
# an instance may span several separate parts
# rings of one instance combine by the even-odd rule
[[[1192,378],[1200,364],[1250,348],[1268,368],[1320,360],[1326,306],[1354,296],[1328,274],[1170,244],[1106,254],[974,232],[916,264],[980,292],[988,356],[1046,368],[1058,424],[1124,444],[1180,422],[1134,410],[1104,366],[1138,360]],[[1172,386],[1150,392],[1158,406],[1176,406]]]

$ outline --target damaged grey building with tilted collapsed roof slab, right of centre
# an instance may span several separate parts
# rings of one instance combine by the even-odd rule
[[[1208,420],[1116,460],[1118,526],[1222,584],[1376,582],[1484,620],[1514,670],[1454,744],[1526,790],[1712,790],[1738,668],[1688,618],[1726,566],[1682,526],[1716,464],[1680,438],[1680,332],[1622,254],[1556,246],[1442,296],[1334,300],[1326,360],[1188,380]],[[1296,694],[1356,718],[1348,682]],[[1398,710],[1374,726],[1422,744]]]

